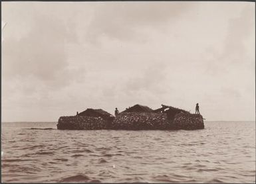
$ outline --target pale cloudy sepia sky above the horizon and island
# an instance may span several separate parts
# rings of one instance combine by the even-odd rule
[[[196,103],[255,120],[255,3],[1,4],[2,122]]]

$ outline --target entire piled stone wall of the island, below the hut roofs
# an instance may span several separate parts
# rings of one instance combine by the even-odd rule
[[[203,129],[203,117],[190,113],[178,113],[174,119],[166,113],[120,113],[105,120],[91,116],[61,116],[60,130],[195,130]]]

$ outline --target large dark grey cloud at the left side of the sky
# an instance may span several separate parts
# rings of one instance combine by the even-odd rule
[[[74,32],[56,17],[36,12],[33,17],[27,34],[3,44],[3,60],[8,61],[4,63],[5,79],[29,78],[56,89],[82,77],[79,73],[85,73],[84,69],[70,66],[66,52],[68,43],[76,42]]]

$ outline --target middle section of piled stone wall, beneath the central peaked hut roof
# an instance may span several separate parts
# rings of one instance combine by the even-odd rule
[[[114,130],[165,130],[170,122],[165,113],[120,113],[111,127]]]

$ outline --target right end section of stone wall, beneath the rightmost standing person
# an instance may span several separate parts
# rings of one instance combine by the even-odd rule
[[[174,117],[172,129],[174,130],[196,130],[203,129],[203,116],[190,113],[179,113]]]

